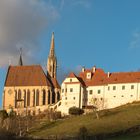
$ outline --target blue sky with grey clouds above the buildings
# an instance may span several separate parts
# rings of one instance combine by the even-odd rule
[[[139,0],[1,0],[0,99],[9,60],[16,65],[22,47],[24,64],[44,67],[52,32],[59,77],[81,66],[139,70],[139,7]]]

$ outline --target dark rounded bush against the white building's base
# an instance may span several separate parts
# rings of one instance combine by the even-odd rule
[[[83,113],[84,113],[84,110],[78,107],[74,106],[74,107],[69,108],[69,114],[71,115],[81,115]]]

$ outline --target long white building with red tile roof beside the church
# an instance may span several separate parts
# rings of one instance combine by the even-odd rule
[[[114,108],[140,100],[140,72],[105,73],[102,69],[83,68],[76,76],[70,73],[61,85],[61,105],[68,114],[70,107],[90,108],[93,99],[98,109]]]

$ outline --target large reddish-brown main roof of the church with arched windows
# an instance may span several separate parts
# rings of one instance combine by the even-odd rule
[[[39,65],[9,66],[5,86],[51,86]]]

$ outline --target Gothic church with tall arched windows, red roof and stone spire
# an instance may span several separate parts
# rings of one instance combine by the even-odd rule
[[[33,115],[47,110],[61,99],[54,33],[46,69],[47,74],[40,65],[24,65],[20,53],[19,64],[8,67],[3,90],[3,109]]]

